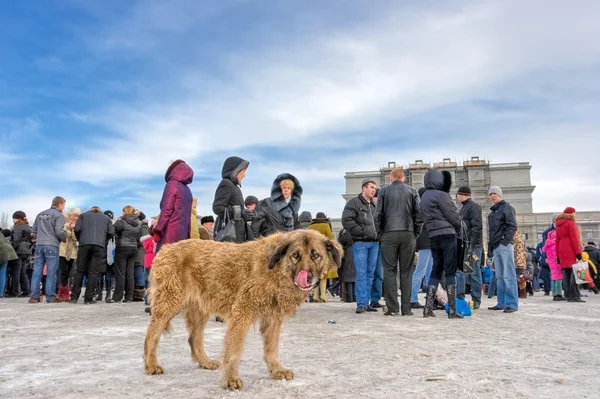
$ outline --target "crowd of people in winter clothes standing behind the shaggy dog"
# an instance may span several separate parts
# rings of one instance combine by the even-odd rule
[[[0,297],[28,297],[29,303],[77,303],[83,286],[84,304],[144,302],[152,261],[165,244],[186,239],[243,243],[276,232],[313,229],[334,238],[323,212],[313,219],[301,210],[302,186],[289,174],[278,175],[271,194],[259,200],[244,197],[241,186],[249,162],[229,157],[209,215],[197,223],[197,199],[188,187],[192,168],[182,160],[165,173],[160,213],[149,220],[131,205],[115,218],[94,206],[87,212],[66,209],[56,197],[30,225],[23,211],[13,214],[13,226],[0,237]],[[502,199],[502,189],[489,188],[487,257],[483,242],[483,211],[471,189],[450,195],[451,175],[430,170],[424,187],[405,183],[402,168],[391,171],[390,183],[378,188],[362,182],[361,193],[342,212],[337,239],[344,247],[342,266],[321,280],[309,301],[326,302],[326,293],[356,303],[356,313],[423,317],[447,308],[451,319],[463,312],[457,302],[471,296],[478,309],[482,295],[497,297],[489,310],[518,311],[519,298],[544,290],[555,301],[584,302],[580,285],[596,294],[600,251],[593,242],[581,245],[575,209],[553,217],[536,248],[525,248],[514,208]],[[458,204],[458,207],[457,207]],[[585,264],[584,273],[574,266]],[[418,293],[425,292],[425,303]],[[400,297],[400,301],[398,301]],[[381,299],[385,300],[382,305]]]

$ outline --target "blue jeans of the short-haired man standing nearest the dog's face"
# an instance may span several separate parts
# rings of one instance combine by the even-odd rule
[[[352,246],[356,270],[356,306],[367,307],[379,255],[378,242],[357,242]]]

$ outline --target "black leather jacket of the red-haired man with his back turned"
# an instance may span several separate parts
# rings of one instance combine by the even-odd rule
[[[421,233],[420,200],[417,190],[400,180],[382,188],[377,197],[377,225],[379,231],[410,231]]]

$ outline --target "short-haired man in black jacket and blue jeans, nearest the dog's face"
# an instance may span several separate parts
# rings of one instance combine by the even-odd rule
[[[376,208],[373,196],[377,189],[375,180],[364,179],[362,192],[352,198],[342,212],[342,226],[352,235],[354,266],[356,269],[356,313],[377,312],[369,305],[373,275],[377,266],[379,242],[375,225]]]

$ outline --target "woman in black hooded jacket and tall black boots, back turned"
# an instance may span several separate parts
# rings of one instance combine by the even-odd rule
[[[457,231],[461,228],[461,220],[449,194],[452,175],[447,171],[430,170],[425,174],[424,182],[426,191],[421,198],[421,215],[429,234],[433,268],[429,277],[423,317],[435,317],[435,293],[445,273],[448,318],[461,319],[462,315],[456,311]]]

